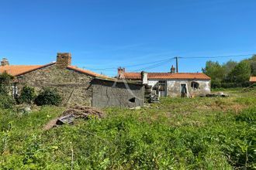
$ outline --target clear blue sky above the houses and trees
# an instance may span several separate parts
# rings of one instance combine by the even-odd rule
[[[97,69],[150,63],[126,70],[166,72],[175,60],[151,62],[256,53],[255,8],[255,0],[0,0],[0,57],[43,64],[70,52],[73,65],[109,76],[116,69]],[[179,71],[201,71],[206,60],[180,59]]]

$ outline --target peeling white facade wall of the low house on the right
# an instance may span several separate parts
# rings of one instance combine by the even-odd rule
[[[148,80],[148,85],[154,87],[159,80]],[[189,95],[199,96],[201,94],[210,93],[210,80],[166,80],[167,81],[167,96],[168,97],[181,97],[181,84],[185,83],[189,91]],[[198,89],[193,89],[191,83],[195,81],[199,83]]]

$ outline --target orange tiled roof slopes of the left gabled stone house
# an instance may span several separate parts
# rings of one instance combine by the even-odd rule
[[[46,65],[36,65],[36,66],[23,66],[23,65],[0,66],[0,73],[7,72],[12,76],[21,76],[23,74],[32,72],[34,70],[39,70],[43,67],[51,66],[51,65],[54,65],[54,64],[55,64],[55,62],[54,63],[48,63]],[[78,71],[80,73],[85,73],[85,74],[88,74],[90,76],[107,78],[107,76],[103,76],[99,73],[94,73],[94,72],[89,71],[89,70],[79,69],[76,66],[67,66],[67,69],[75,70],[75,71]]]

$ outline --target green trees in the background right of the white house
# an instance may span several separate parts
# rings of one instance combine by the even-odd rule
[[[212,78],[213,88],[247,87],[250,76],[256,76],[256,55],[239,63],[233,60],[223,64],[207,61],[202,72]]]

